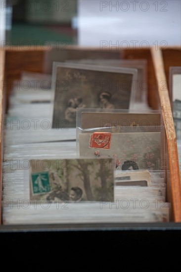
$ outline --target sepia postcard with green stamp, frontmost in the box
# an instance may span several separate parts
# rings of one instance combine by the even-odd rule
[[[114,201],[112,159],[31,160],[30,199]]]

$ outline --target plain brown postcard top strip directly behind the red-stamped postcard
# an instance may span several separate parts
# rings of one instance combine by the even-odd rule
[[[88,109],[89,110],[89,109]],[[81,113],[81,128],[160,126],[160,113],[85,112]]]

